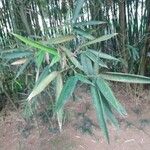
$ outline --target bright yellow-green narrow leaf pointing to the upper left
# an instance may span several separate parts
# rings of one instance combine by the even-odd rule
[[[15,37],[17,37],[19,40],[23,41],[24,43],[34,47],[34,48],[37,48],[37,49],[40,49],[40,50],[43,50],[45,52],[48,52],[52,55],[55,55],[55,56],[58,56],[58,52],[54,49],[54,48],[50,48],[50,47],[47,47],[47,46],[44,46],[42,45],[41,43],[39,42],[36,42],[36,41],[33,41],[31,39],[28,39],[28,38],[25,38],[21,35],[18,35],[18,34],[14,34],[12,33],[12,35],[14,35]]]

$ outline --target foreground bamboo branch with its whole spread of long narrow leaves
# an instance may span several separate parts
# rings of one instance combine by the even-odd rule
[[[119,59],[99,50],[93,50],[94,48],[92,49],[92,47],[97,43],[114,38],[117,33],[95,38],[92,32],[88,32],[86,30],[88,26],[101,25],[105,24],[105,22],[95,20],[80,21],[82,18],[80,12],[84,3],[84,0],[77,0],[72,19],[67,20],[67,18],[65,25],[60,27],[61,30],[59,30],[59,27],[55,28],[55,30],[60,31],[59,34],[63,33],[64,35],[55,35],[55,38],[38,41],[12,33],[13,36],[28,45],[28,49],[22,50],[18,48],[5,51],[2,55],[4,60],[13,61],[11,64],[14,66],[21,65],[16,78],[23,74],[30,64],[36,64],[31,68],[31,70],[34,70],[31,75],[36,77],[34,88],[26,101],[25,112],[28,116],[31,116],[34,112],[32,110],[33,103],[35,108],[37,106],[37,96],[40,96],[42,92],[50,88],[48,93],[55,99],[53,107],[54,112],[57,113],[60,130],[63,124],[64,105],[73,94],[78,81],[88,84],[91,88],[92,102],[95,106],[99,126],[109,142],[107,121],[109,120],[118,127],[114,111],[122,116],[125,116],[127,113],[114,96],[107,80],[128,83],[150,83],[150,78],[107,71],[109,69],[107,62],[119,62]],[[43,12],[40,7],[39,9]],[[55,15],[58,14],[55,13]],[[59,17],[57,16],[57,18]],[[44,32],[49,35],[49,31],[46,30],[45,26]],[[66,30],[68,30],[68,35],[66,35]],[[29,50],[29,47],[34,49]],[[67,76],[67,73],[70,72],[71,74]],[[25,75],[28,77],[28,72]]]

